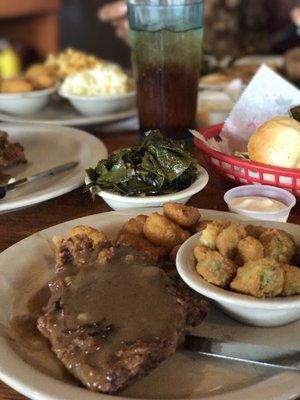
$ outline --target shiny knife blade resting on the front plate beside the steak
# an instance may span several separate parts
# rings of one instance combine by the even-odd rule
[[[186,335],[183,350],[230,361],[300,372],[300,350]]]

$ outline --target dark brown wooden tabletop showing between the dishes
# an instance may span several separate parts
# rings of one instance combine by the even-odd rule
[[[139,135],[136,132],[97,133],[97,136],[103,140],[109,152],[120,147],[131,146],[139,140]],[[205,167],[205,162],[201,154],[196,151],[195,155]],[[193,196],[189,204],[199,208],[227,211],[223,196],[233,186],[209,168],[207,169],[210,176],[207,187],[199,194]],[[0,216],[0,251],[52,225],[90,214],[110,211],[110,208],[102,199],[97,197],[95,202],[93,202],[88,193],[82,193],[82,189],[81,187],[53,200],[2,214]],[[289,222],[300,225],[300,202],[293,208]],[[5,384],[0,383],[0,400],[13,399],[24,400],[25,397],[16,393]]]

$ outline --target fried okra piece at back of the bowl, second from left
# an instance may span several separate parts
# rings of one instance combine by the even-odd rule
[[[246,229],[241,224],[231,223],[218,235],[216,243],[219,252],[233,260],[237,253],[237,246],[240,240],[247,236]]]

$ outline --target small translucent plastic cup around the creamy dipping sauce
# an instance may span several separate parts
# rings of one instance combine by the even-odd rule
[[[267,197],[270,199],[278,200],[286,205],[280,211],[250,211],[235,207],[231,204],[230,200],[236,197],[246,197],[246,196],[259,196]],[[295,196],[288,192],[287,190],[268,185],[244,185],[238,186],[224,195],[224,200],[227,203],[229,211],[244,215],[253,219],[260,219],[265,221],[279,221],[286,222],[291,209],[296,204]]]

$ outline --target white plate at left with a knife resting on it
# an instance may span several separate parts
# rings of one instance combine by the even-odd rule
[[[25,149],[26,164],[1,171],[13,178],[28,177],[69,161],[79,162],[69,171],[7,192],[5,198],[0,199],[0,212],[30,206],[70,192],[84,183],[86,168],[107,157],[107,149],[101,140],[82,130],[30,124],[0,124],[0,130],[8,133],[11,142],[19,142]]]

